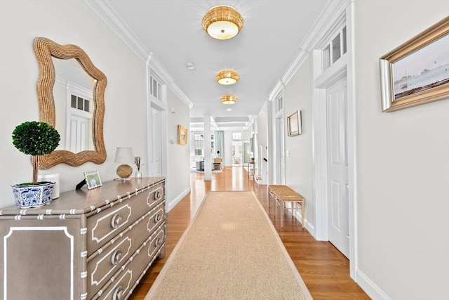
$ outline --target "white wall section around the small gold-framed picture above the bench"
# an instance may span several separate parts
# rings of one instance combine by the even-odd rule
[[[301,111],[302,134],[286,134],[286,185],[300,193],[306,200],[306,220],[314,227],[314,198],[312,186],[312,114],[311,114],[311,59],[310,56],[288,81],[284,88],[285,117]],[[287,130],[287,124],[285,124]]]

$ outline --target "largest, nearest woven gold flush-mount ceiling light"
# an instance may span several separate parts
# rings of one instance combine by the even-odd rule
[[[214,6],[204,15],[201,25],[214,39],[232,39],[243,27],[243,18],[231,6]]]

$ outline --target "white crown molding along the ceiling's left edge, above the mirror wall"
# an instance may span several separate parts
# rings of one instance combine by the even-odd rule
[[[185,93],[183,93],[179,87],[175,84],[170,74],[156,58],[154,53],[150,52],[142,41],[136,37],[133,31],[130,30],[126,22],[120,18],[119,14],[114,11],[114,8],[104,0],[83,0],[84,3],[91,8],[91,10],[100,17],[100,19],[105,22],[106,25],[128,46],[130,47],[137,56],[143,60],[147,66],[161,77],[170,90],[173,91],[182,102],[186,103],[189,108],[192,108],[193,103],[189,100]]]

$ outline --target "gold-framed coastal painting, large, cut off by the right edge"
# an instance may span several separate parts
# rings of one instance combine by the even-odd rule
[[[449,98],[449,16],[380,58],[382,112]]]

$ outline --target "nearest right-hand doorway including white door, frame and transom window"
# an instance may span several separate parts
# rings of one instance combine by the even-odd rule
[[[332,240],[356,280],[356,124],[353,4],[330,21],[312,51],[315,237]],[[330,131],[328,133],[328,131]],[[335,167],[335,169],[334,169]],[[338,237],[334,235],[338,233]],[[342,242],[340,244],[340,242]]]

